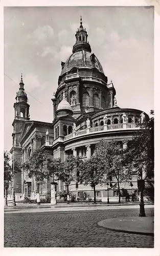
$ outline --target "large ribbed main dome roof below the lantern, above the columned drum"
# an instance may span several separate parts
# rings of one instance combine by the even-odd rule
[[[94,58],[92,58],[94,57]],[[100,72],[104,74],[101,63],[95,54],[90,53],[85,50],[80,50],[74,52],[64,64],[64,67],[61,71],[61,75],[70,71],[72,68],[97,68]]]

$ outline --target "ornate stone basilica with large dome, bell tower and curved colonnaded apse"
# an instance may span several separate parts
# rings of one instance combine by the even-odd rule
[[[112,81],[108,81],[97,56],[92,53],[88,43],[87,31],[80,20],[73,53],[65,62],[61,62],[61,74],[58,88],[52,97],[53,121],[41,122],[30,119],[30,105],[21,76],[19,90],[14,103],[15,116],[13,126],[12,158],[25,162],[32,152],[42,147],[52,158],[64,161],[73,154],[82,159],[93,155],[95,145],[101,139],[119,141],[122,147],[125,139],[132,139],[137,123],[147,114],[136,109],[121,109],[116,99],[116,89]],[[143,113],[143,114],[142,114]],[[36,182],[29,178],[25,169],[16,174],[14,179],[15,195],[34,198]],[[123,182],[121,188],[139,195],[137,182]],[[51,189],[46,181],[41,187],[41,195]],[[58,181],[57,190],[65,189],[63,182]],[[107,199],[106,186],[96,186],[96,195],[102,201]],[[70,185],[70,190],[79,197],[81,190],[94,197],[92,186],[84,186],[77,182]],[[109,197],[117,198],[118,190],[110,189]]]

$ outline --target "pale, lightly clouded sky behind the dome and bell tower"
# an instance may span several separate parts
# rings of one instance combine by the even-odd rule
[[[12,122],[21,73],[31,120],[53,121],[51,98],[61,61],[72,54],[80,25],[120,108],[154,109],[153,7],[5,7],[5,149],[12,147]]]

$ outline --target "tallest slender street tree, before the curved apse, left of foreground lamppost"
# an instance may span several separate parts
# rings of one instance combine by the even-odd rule
[[[119,142],[101,140],[96,145],[96,154],[100,162],[105,164],[105,182],[116,179],[118,185],[119,203],[121,203],[120,183],[130,179],[131,170],[128,165],[127,149],[123,149]]]

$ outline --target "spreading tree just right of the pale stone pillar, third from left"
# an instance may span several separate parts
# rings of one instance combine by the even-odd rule
[[[68,156],[64,162],[61,162],[61,160],[58,159],[58,164],[57,162],[55,162],[55,164],[54,160],[50,176],[55,174],[58,180],[61,180],[65,183],[67,187],[67,195],[69,196],[69,186],[71,182],[75,181],[77,177],[77,172],[79,171],[79,163],[81,160],[74,156]]]

